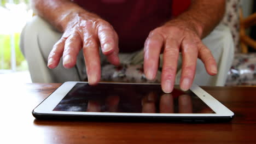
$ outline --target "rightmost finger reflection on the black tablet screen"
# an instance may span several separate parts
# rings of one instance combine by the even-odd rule
[[[188,94],[179,96],[179,113],[193,113],[191,97]]]

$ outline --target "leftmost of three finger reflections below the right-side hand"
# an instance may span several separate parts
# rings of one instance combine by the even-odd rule
[[[142,113],[155,113],[156,93],[150,92],[142,99]]]

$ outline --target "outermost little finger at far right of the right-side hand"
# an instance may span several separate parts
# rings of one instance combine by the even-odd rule
[[[199,47],[199,58],[205,64],[207,73],[216,75],[218,73],[217,64],[212,52],[201,41],[197,44],[197,47]]]

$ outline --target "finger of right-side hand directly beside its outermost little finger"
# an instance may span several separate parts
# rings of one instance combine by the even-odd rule
[[[188,91],[195,76],[198,52],[193,39],[193,37],[187,37],[182,41],[182,74],[180,86],[183,91]]]

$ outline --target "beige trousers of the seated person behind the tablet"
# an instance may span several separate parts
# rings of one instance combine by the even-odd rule
[[[48,83],[83,81],[86,79],[86,68],[82,52],[79,53],[77,64],[74,68],[65,69],[62,66],[62,59],[57,68],[49,69],[47,67],[48,55],[56,41],[61,38],[61,35],[62,33],[56,31],[48,22],[38,16],[34,16],[24,27],[21,33],[20,47],[27,59],[32,82]],[[203,63],[198,59],[194,82],[201,86],[224,86],[234,57],[234,43],[229,28],[219,25],[202,41],[211,50],[219,71],[216,76],[208,75]],[[119,57],[121,63],[136,65],[143,63],[144,56],[143,50],[141,50],[133,53],[120,53]],[[101,62],[104,61],[106,61],[106,58],[101,54]],[[179,83],[181,77],[181,64],[180,56],[176,84]],[[161,72],[159,71],[159,73]],[[160,79],[159,75],[157,79]]]

